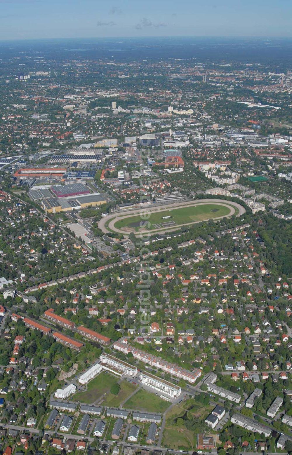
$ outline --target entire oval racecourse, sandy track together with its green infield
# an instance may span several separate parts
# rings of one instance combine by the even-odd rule
[[[141,217],[141,210],[147,214],[146,220]],[[105,233],[164,233],[177,230],[181,226],[231,215],[239,216],[245,212],[241,205],[221,199],[200,199],[162,206],[152,204],[141,210],[117,213],[114,217],[110,215],[102,218],[98,226]]]

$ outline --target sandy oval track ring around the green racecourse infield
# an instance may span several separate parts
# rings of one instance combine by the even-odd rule
[[[189,201],[189,202],[174,202],[173,204],[163,204],[163,205],[150,205],[149,207],[140,207],[140,208],[137,208],[137,209],[133,209],[133,210],[129,210],[128,212],[118,212],[118,213],[114,213],[114,214],[111,214],[111,215],[108,215],[107,217],[104,217],[102,218],[99,222],[98,222],[98,227],[102,230],[102,232],[104,233],[109,233],[111,231],[114,231],[118,234],[123,234],[124,236],[127,236],[129,235],[130,232],[134,232],[134,231],[123,231],[121,229],[117,229],[116,227],[114,227],[114,224],[117,222],[118,218],[129,218],[129,217],[133,217],[134,215],[137,215],[139,213],[145,213],[145,212],[156,212],[156,211],[162,211],[162,210],[169,210],[169,209],[172,209],[172,208],[181,208],[181,207],[188,207],[188,206],[196,206],[196,205],[200,205],[200,204],[214,204],[214,203],[220,203],[220,205],[223,205],[225,207],[230,207],[230,214],[228,215],[228,217],[231,217],[234,213],[235,213],[235,208],[238,208],[239,210],[239,213],[237,216],[241,216],[243,215],[243,213],[245,213],[245,208],[242,207],[240,204],[237,204],[237,202],[231,202],[231,201],[225,201],[223,199],[197,199],[196,201]],[[233,206],[233,207],[232,207]],[[212,217],[213,220],[218,220],[220,218],[224,218],[224,216],[221,216],[221,217]],[[211,219],[211,218],[209,218]],[[109,220],[112,220],[108,223],[108,228],[105,227],[106,223],[109,221]],[[203,221],[208,221],[207,219],[206,220],[203,220]],[[195,224],[195,223],[200,223],[202,221],[195,221],[195,222],[191,222],[191,223],[185,223],[185,224],[179,224],[179,225],[176,225],[174,227],[169,227],[169,228],[159,228],[159,229],[151,229],[151,231],[147,230],[147,229],[141,229],[139,231],[139,234],[141,233],[159,233],[159,234],[164,234],[164,233],[168,233],[168,232],[171,232],[171,231],[176,231],[179,227],[182,227],[182,226],[188,226],[190,224]],[[131,228],[130,228],[131,229]],[[137,233],[138,234],[138,233]]]

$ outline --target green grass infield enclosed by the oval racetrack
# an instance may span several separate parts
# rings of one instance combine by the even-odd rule
[[[198,204],[189,207],[181,207],[175,209],[169,209],[164,211],[151,212],[150,217],[147,220],[147,229],[157,229],[157,225],[160,228],[170,227],[163,226],[163,223],[174,222],[176,225],[188,224],[192,222],[199,222],[209,220],[210,218],[225,217],[231,212],[230,207],[226,207],[219,203],[214,204]],[[169,218],[165,218],[169,217]],[[114,227],[117,229],[123,229],[125,227],[132,227],[138,232],[141,223],[141,216],[135,215],[133,217],[121,218],[115,222]],[[150,225],[149,225],[150,223]],[[175,226],[175,225],[174,225]]]

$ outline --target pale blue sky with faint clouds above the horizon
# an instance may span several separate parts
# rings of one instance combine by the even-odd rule
[[[291,0],[0,0],[0,40],[291,37]]]

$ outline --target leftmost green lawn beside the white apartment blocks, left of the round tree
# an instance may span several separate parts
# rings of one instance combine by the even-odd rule
[[[102,372],[87,384],[87,390],[85,392],[77,392],[72,400],[80,403],[92,404],[97,399],[101,398],[103,394],[109,392],[112,385],[117,382],[118,378]]]

